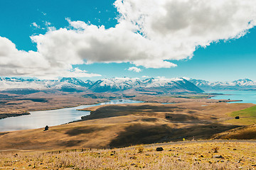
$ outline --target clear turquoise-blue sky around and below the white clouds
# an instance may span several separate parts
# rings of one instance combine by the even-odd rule
[[[7,38],[13,42],[17,50],[26,52],[33,50],[36,52],[38,50],[36,47],[37,43],[31,41],[31,35],[41,34],[44,38],[44,35],[46,35],[50,29],[53,29],[53,31],[61,28],[73,29],[70,28],[70,23],[67,18],[69,18],[70,21],[83,21],[88,25],[105,26],[106,30],[108,28],[114,28],[119,22],[117,18],[120,18],[122,13],[120,14],[119,11],[117,11],[113,3],[114,1],[103,0],[1,0],[0,37]],[[250,15],[250,13],[248,15]],[[130,16],[130,18],[132,17],[134,16]],[[227,29],[230,29],[228,26],[229,25],[227,25]],[[70,62],[70,64],[73,68],[86,70],[87,73],[101,75],[101,77],[92,76],[90,78],[80,76],[80,79],[95,80],[112,77],[189,77],[193,79],[206,79],[208,81],[233,81],[244,78],[256,80],[256,28],[253,28],[254,26],[251,27],[250,29],[238,28],[248,30],[248,33],[240,38],[229,39],[233,34],[221,35],[217,42],[215,42],[215,38],[213,38],[214,42],[211,42],[210,45],[206,47],[196,47],[197,49],[193,52],[193,57],[190,59],[180,57],[178,58],[179,60],[174,60],[175,57],[170,57],[170,60],[166,60],[166,58],[164,58],[163,61],[177,64],[176,67],[166,66],[166,68],[163,68],[160,63],[158,68],[152,68],[148,66],[148,64],[140,64],[137,60],[125,60],[124,57],[122,57],[122,59],[115,59],[113,60],[114,62],[112,62],[110,58],[105,60],[104,56],[99,60],[88,59],[92,60],[92,64],[81,64],[80,62]],[[209,34],[210,33],[207,33],[206,35]],[[170,36],[171,35],[174,34],[172,33]],[[216,37],[218,36],[216,35]],[[163,42],[165,41],[166,39],[163,40]],[[47,40],[43,42],[47,42]],[[140,45],[143,44],[140,43]],[[95,51],[97,52],[97,49]],[[41,53],[45,54],[44,52]],[[189,54],[189,52],[186,54]],[[107,61],[107,63],[105,63],[105,61]],[[142,71],[132,72],[128,70],[129,67],[137,67]],[[7,71],[4,70],[4,72]],[[0,73],[0,76],[8,75],[7,73],[4,75]],[[11,72],[10,76],[11,75],[14,74]],[[28,74],[23,75],[24,77],[29,77]],[[31,75],[31,77],[33,77],[33,74]],[[16,76],[19,77],[21,75]]]

